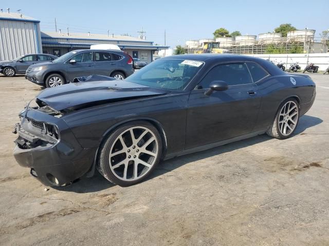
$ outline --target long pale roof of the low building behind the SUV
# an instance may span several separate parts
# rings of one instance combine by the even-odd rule
[[[135,42],[146,42],[146,43],[153,43],[152,41],[140,39],[137,37],[132,36],[124,36],[124,35],[109,35],[106,34],[95,34],[95,33],[69,33],[67,36],[67,33],[58,33],[58,32],[41,32],[41,37],[43,38],[72,38],[72,39],[90,39],[90,40],[110,40],[110,41],[135,41]]]

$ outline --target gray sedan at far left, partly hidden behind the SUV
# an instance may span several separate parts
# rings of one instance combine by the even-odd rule
[[[33,64],[52,61],[57,56],[48,54],[28,54],[17,57],[13,60],[0,61],[0,72],[7,77],[13,77],[16,74],[24,74],[27,68]]]

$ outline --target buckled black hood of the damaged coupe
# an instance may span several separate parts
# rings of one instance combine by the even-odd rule
[[[53,110],[67,112],[168,92],[125,80],[87,81],[45,89],[36,97],[36,102],[39,106],[48,105]]]

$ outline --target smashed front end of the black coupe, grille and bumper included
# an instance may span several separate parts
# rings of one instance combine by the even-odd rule
[[[96,150],[84,149],[62,114],[43,105],[27,105],[14,127],[18,137],[13,154],[22,167],[46,186],[62,186],[85,174],[93,164]]]

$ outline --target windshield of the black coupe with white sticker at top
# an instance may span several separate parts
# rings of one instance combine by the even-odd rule
[[[168,90],[183,90],[204,65],[203,61],[159,59],[126,78],[127,81]]]

